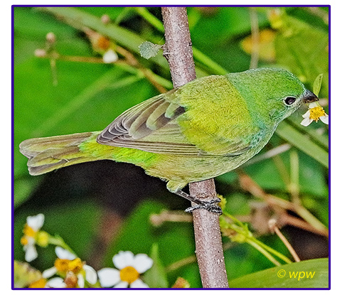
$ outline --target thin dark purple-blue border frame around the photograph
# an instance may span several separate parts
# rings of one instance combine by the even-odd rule
[[[163,5],[12,5],[11,6],[11,261],[14,262],[14,9],[16,7],[161,7]],[[164,5],[169,6],[169,5]],[[173,5],[172,5],[173,6]],[[186,5],[175,5],[183,7]],[[187,5],[187,7],[328,7],[328,19],[331,21],[331,5]],[[328,89],[331,90],[331,26],[328,27]],[[328,111],[331,111],[331,100],[328,97]],[[329,116],[329,125],[331,124],[331,117]],[[331,146],[331,128],[328,130],[328,146]],[[331,154],[328,153],[328,233],[331,237]],[[235,288],[229,290],[330,290],[331,289],[331,238],[328,240],[328,288]],[[48,290],[44,288],[14,288],[14,264],[11,265],[11,289],[12,290]],[[70,290],[66,288],[55,288],[50,290]],[[73,290],[110,290],[109,288],[83,288]],[[144,290],[144,289],[115,289],[115,290]],[[172,290],[171,288],[151,288],[146,290]],[[181,289],[188,290],[188,289]],[[191,290],[191,289],[190,289]],[[193,290],[204,290],[202,288],[193,288]],[[221,288],[211,288],[208,290],[223,290]]]

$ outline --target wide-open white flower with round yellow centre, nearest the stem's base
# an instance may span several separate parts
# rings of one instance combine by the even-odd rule
[[[120,251],[112,257],[112,262],[117,269],[105,267],[97,272],[102,287],[149,288],[139,279],[139,275],[150,269],[154,263],[146,254],[134,255],[130,251]]]

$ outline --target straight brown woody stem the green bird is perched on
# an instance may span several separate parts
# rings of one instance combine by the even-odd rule
[[[164,56],[169,62],[174,87],[196,78],[191,34],[185,7],[162,7],[165,28]],[[216,197],[213,179],[190,183],[190,194],[200,200]],[[219,217],[207,210],[193,211],[196,257],[204,288],[228,288]]]

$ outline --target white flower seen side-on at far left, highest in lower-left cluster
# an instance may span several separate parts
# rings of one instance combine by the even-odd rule
[[[44,221],[45,216],[41,213],[35,216],[28,216],[27,218],[26,225],[23,228],[24,235],[21,237],[21,244],[23,245],[23,250],[26,252],[25,259],[27,262],[31,262],[38,257],[35,247],[36,238]]]

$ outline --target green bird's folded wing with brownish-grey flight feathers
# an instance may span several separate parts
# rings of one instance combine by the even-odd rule
[[[181,156],[237,156],[248,149],[250,145],[242,141],[228,141],[220,153],[210,153],[198,145],[191,144],[181,132],[178,122],[186,109],[168,99],[174,96],[175,90],[169,95],[158,95],[128,109],[105,128],[97,142],[109,146],[122,146],[140,149],[156,154]],[[211,138],[210,138],[211,140]]]

